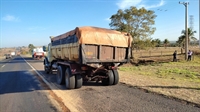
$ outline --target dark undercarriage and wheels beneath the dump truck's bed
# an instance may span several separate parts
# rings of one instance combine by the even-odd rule
[[[93,68],[64,60],[49,63],[45,58],[44,70],[47,74],[57,70],[57,83],[65,84],[67,89],[81,88],[85,81],[101,82],[103,85],[116,85],[119,82],[119,74],[114,63],[104,63],[99,68]]]

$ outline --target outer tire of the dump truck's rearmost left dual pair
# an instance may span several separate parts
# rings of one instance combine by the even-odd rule
[[[70,68],[65,71],[65,85],[67,89],[75,88],[75,76],[71,74]]]

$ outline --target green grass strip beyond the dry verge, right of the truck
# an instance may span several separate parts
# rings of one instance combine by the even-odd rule
[[[139,75],[147,75],[163,79],[200,82],[200,57],[196,55],[193,61],[168,63],[150,63],[148,65],[125,65],[121,71]]]

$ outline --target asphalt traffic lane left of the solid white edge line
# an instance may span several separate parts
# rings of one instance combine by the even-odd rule
[[[0,112],[57,112],[23,58],[0,61]]]

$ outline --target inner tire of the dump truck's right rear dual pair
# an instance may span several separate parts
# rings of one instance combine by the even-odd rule
[[[108,75],[108,78],[102,80],[103,85],[113,85],[113,83],[114,83],[114,75],[113,75],[112,70],[108,70],[107,75]]]

